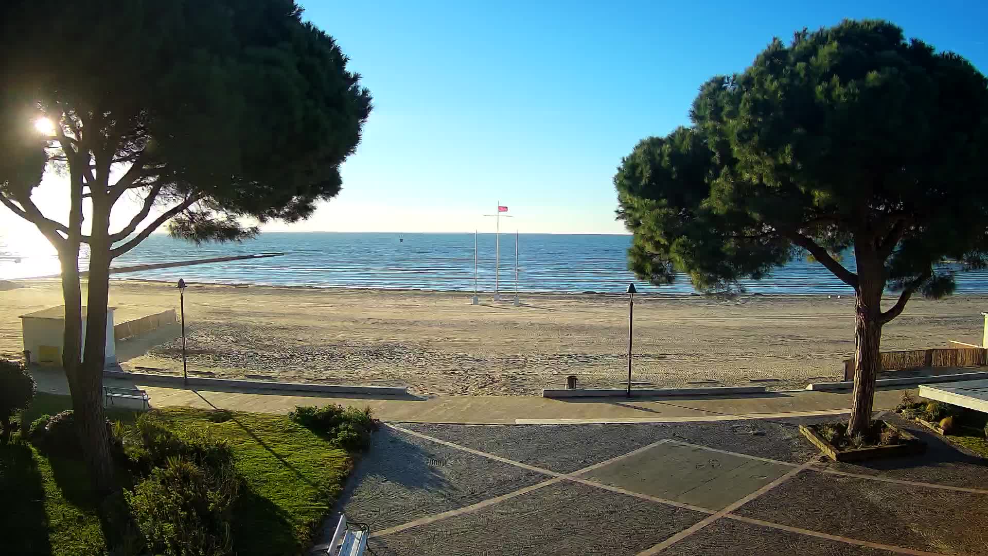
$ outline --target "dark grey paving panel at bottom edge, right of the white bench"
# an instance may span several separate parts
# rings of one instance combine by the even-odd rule
[[[378,556],[633,555],[706,515],[564,481],[482,510],[371,538]]]

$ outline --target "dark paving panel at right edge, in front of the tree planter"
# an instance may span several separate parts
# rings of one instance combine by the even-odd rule
[[[735,513],[945,554],[988,554],[988,495],[803,471]]]

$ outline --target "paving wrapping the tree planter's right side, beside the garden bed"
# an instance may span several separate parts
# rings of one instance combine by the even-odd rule
[[[988,459],[961,452],[940,435],[917,422],[894,414],[885,414],[884,418],[909,429],[926,442],[926,453],[856,464],[835,463],[828,460],[827,468],[862,475],[880,475],[903,481],[988,490]]]

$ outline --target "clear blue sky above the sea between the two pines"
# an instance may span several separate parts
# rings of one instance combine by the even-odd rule
[[[803,6],[802,4],[806,4]],[[344,191],[292,229],[623,232],[611,178],[775,36],[883,18],[988,66],[984,2],[308,2],[374,112]]]

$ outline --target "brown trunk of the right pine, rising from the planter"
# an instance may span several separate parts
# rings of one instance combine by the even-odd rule
[[[859,274],[855,296],[855,387],[848,434],[864,433],[871,422],[874,381],[881,370],[881,292],[884,280]]]

